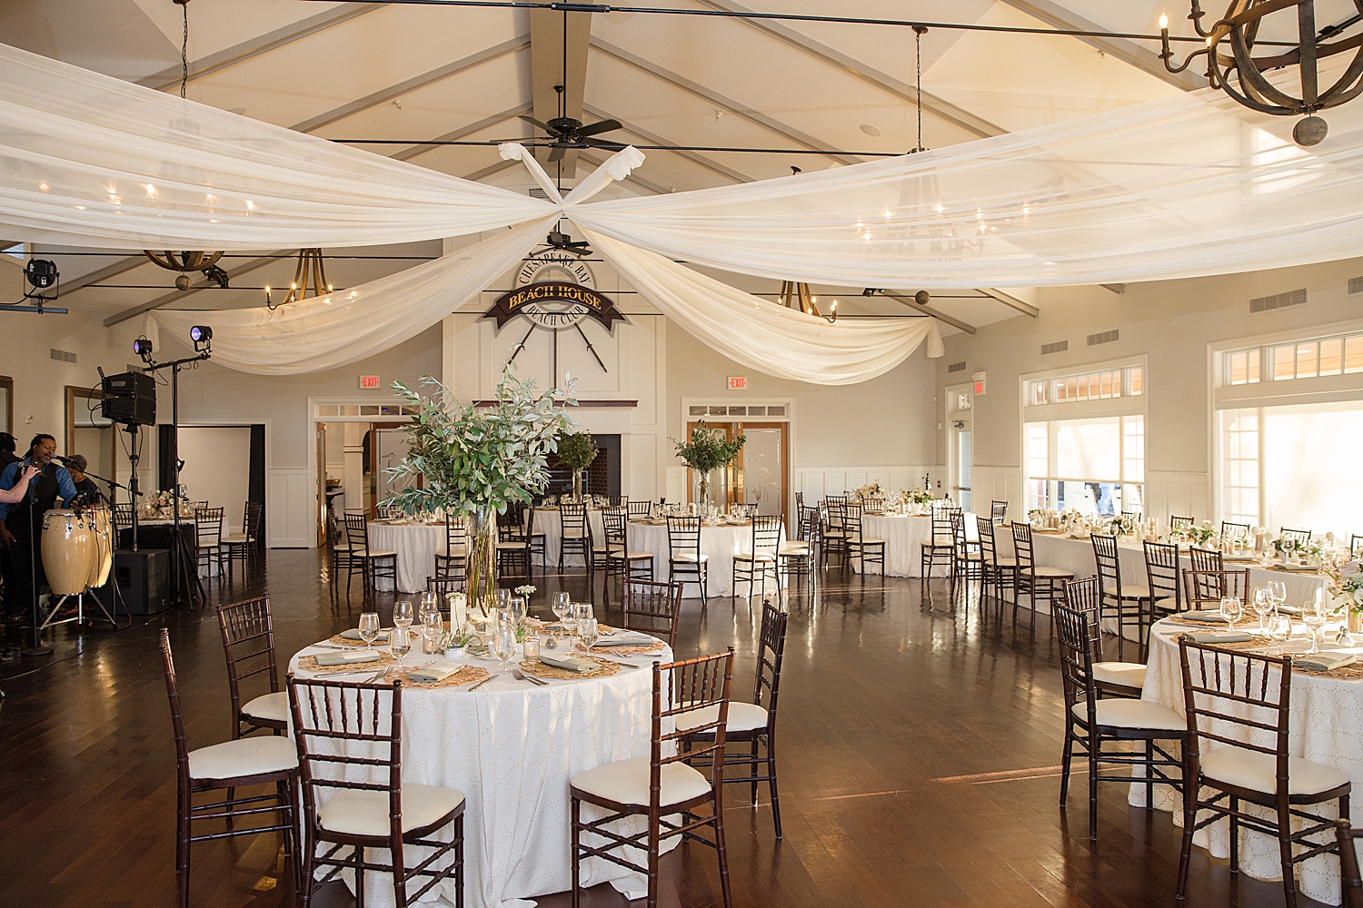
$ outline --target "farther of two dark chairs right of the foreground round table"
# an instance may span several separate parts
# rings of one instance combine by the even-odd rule
[[[785,655],[785,625],[788,615],[771,604],[762,603],[762,630],[758,638],[756,679],[752,689],[752,702],[729,701],[729,721],[724,728],[724,768],[748,768],[748,775],[729,775],[724,781],[752,785],[752,806],[758,806],[758,783],[767,783],[771,796],[771,822],[776,837],[781,837],[781,802],[776,788],[776,707],[781,690],[781,659]],[[713,720],[714,708],[677,717],[677,728],[702,726]],[[686,746],[696,741],[711,741],[713,732],[696,732],[687,736]],[[736,753],[731,746],[748,742],[748,753]],[[761,746],[761,751],[759,751]],[[758,775],[761,769],[766,775]]]

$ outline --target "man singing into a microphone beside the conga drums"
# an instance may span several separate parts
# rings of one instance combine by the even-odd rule
[[[0,490],[10,491],[26,487],[18,502],[0,502],[0,545],[10,549],[11,577],[14,583],[5,584],[4,613],[7,623],[19,623],[25,614],[33,607],[34,594],[42,592],[46,576],[42,573],[42,515],[56,505],[60,496],[63,506],[71,506],[76,497],[76,486],[71,481],[71,472],[56,463],[57,440],[48,434],[37,434],[29,442],[29,455],[15,461],[0,472]],[[38,467],[41,472],[20,485],[20,478],[27,474],[26,467]]]

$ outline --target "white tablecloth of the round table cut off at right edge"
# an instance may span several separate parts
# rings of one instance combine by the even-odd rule
[[[1253,615],[1246,626],[1257,625],[1258,615]],[[1329,625],[1329,634],[1333,637],[1336,625]],[[1150,632],[1150,653],[1145,670],[1145,689],[1141,694],[1144,700],[1163,704],[1183,715],[1183,675],[1179,664],[1178,636],[1190,630],[1204,628],[1190,628],[1171,622],[1157,621]],[[1306,652],[1310,649],[1310,636],[1303,625],[1293,625],[1293,638],[1288,641],[1288,652]],[[1304,634],[1304,636],[1303,636]],[[1322,643],[1323,649],[1343,649],[1333,643]],[[1345,649],[1363,656],[1363,647]],[[1276,675],[1274,675],[1276,678]],[[1270,679],[1270,690],[1277,685]],[[1293,757],[1334,766],[1348,773],[1353,784],[1363,785],[1363,681],[1349,678],[1330,678],[1326,675],[1313,675],[1304,671],[1292,672],[1292,713],[1291,739],[1288,753]],[[1213,727],[1217,734],[1229,738],[1244,739],[1244,727],[1224,723]],[[1265,735],[1255,743],[1273,746],[1274,735]],[[1205,751],[1205,749],[1204,749]],[[1363,788],[1360,788],[1363,790]],[[1134,784],[1129,795],[1129,802],[1137,807],[1145,806],[1145,785]],[[1243,805],[1244,802],[1242,802]],[[1183,805],[1179,795],[1168,785],[1154,787],[1154,807],[1157,810],[1172,811],[1174,822],[1183,826]],[[1246,810],[1258,811],[1254,805],[1244,805]],[[1313,813],[1334,818],[1333,803],[1317,807],[1306,807]],[[1272,811],[1262,811],[1270,817]],[[1208,814],[1201,814],[1206,817]],[[1333,841],[1333,833],[1329,836]],[[1227,820],[1199,830],[1193,836],[1194,844],[1208,848],[1216,858],[1228,858],[1229,851],[1229,824]],[[1240,836],[1240,870],[1255,879],[1281,879],[1283,862],[1278,856],[1277,840],[1255,832],[1243,832]],[[1303,894],[1330,905],[1340,904],[1340,862],[1334,855],[1319,855],[1298,864],[1298,882]]]

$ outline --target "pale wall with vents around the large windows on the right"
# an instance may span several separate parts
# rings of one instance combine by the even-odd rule
[[[987,325],[975,336],[946,339],[938,361],[942,395],[961,376],[985,372],[987,393],[975,400],[975,498],[1006,498],[1011,516],[1022,506],[1022,417],[1020,376],[1048,369],[1081,370],[1124,357],[1145,355],[1148,422],[1146,510],[1217,519],[1212,496],[1212,411],[1208,346],[1276,331],[1311,331],[1359,316],[1348,279],[1363,275],[1363,260],[1347,260],[1190,280],[1103,287],[1054,287],[1039,294],[1041,316]],[[1302,306],[1250,314],[1249,302],[1266,294],[1307,289]],[[1086,336],[1118,328],[1120,340],[1097,347]],[[1069,340],[1065,353],[1041,355],[1041,344]],[[965,361],[964,372],[947,365]],[[938,417],[940,419],[940,417]],[[945,461],[945,433],[936,433]]]

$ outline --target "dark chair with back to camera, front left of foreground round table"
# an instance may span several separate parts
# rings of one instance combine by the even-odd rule
[[[463,794],[402,780],[402,682],[290,677],[289,709],[303,790],[301,903],[308,904],[313,886],[353,870],[357,893],[364,892],[367,871],[393,874],[397,908],[416,904],[453,874],[455,904],[462,908]],[[318,796],[328,791],[330,798]],[[451,824],[448,840],[439,839]],[[330,848],[319,855],[319,845]],[[412,845],[432,852],[408,866]],[[379,863],[375,849],[386,849],[390,863]],[[330,871],[315,879],[319,866]],[[423,877],[420,889],[408,892]]]

